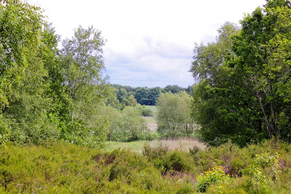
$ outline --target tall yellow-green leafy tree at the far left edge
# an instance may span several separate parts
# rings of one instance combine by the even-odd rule
[[[49,69],[58,65],[58,36],[39,7],[0,2],[0,142],[3,137],[20,144],[57,140],[58,105],[49,95]]]

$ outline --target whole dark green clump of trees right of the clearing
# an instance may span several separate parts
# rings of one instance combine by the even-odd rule
[[[267,0],[196,44],[193,116],[200,140],[240,146],[273,136],[291,142],[291,1]]]

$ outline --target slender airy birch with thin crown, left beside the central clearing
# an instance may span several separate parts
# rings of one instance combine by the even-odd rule
[[[107,77],[102,76],[105,69],[102,57],[105,40],[93,26],[88,29],[79,26],[74,36],[65,39],[62,45],[65,85],[71,102],[71,124],[63,138],[77,144],[82,144],[88,136],[101,141],[102,131],[90,123],[98,113],[101,99],[108,96],[109,92]]]

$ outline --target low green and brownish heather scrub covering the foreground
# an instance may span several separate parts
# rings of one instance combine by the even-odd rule
[[[190,152],[145,145],[143,154],[46,141],[0,147],[1,193],[288,194],[291,146],[227,143]]]

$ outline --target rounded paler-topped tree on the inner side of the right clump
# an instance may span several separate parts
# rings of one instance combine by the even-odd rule
[[[235,24],[226,22],[218,29],[216,42],[196,44],[194,47],[190,72],[198,83],[194,86],[192,114],[195,122],[201,126],[198,130],[200,140],[211,146],[222,144],[229,137],[235,138],[238,129],[238,136],[249,136],[249,132],[241,130],[242,126],[236,122],[235,113],[225,114],[225,110],[233,109],[230,100],[239,98],[240,101],[243,98],[242,95],[229,98],[229,91],[224,89],[225,85],[232,84],[227,76],[230,70],[225,60],[227,56],[233,55],[231,36],[238,32],[239,28]],[[239,139],[247,142],[245,138]]]

